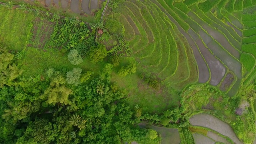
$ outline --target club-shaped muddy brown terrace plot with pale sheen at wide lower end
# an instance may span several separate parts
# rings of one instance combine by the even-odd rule
[[[196,41],[196,44],[198,45],[198,48],[201,52],[201,54],[204,56],[204,59],[206,60],[210,71],[211,71],[211,80],[210,84],[213,86],[216,86],[220,83],[223,76],[226,73],[226,68],[224,65],[215,57],[212,55],[212,53],[204,46],[201,39],[198,39]]]

